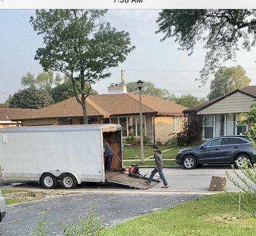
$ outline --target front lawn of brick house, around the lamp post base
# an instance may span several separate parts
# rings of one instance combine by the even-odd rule
[[[159,146],[159,150],[163,151],[166,149],[169,149],[170,146],[167,145],[161,145]],[[154,151],[153,148],[151,146],[144,146],[144,155],[145,158],[147,158],[148,156],[153,155]],[[140,155],[141,155],[141,147],[140,146],[125,146],[124,147],[124,159],[140,159]]]

